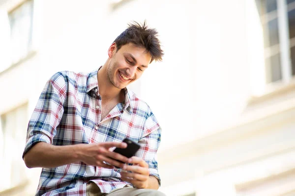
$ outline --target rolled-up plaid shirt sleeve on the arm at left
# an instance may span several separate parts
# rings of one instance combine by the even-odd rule
[[[66,83],[62,73],[55,73],[46,83],[29,120],[24,155],[38,142],[52,144],[63,114]]]

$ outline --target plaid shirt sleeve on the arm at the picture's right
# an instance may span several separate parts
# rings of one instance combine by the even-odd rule
[[[144,134],[139,141],[141,147],[136,154],[148,163],[149,175],[158,179],[159,186],[161,186],[161,179],[158,172],[157,151],[161,142],[161,132],[159,123],[151,113],[146,121]]]

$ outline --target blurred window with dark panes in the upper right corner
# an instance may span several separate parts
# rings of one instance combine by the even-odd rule
[[[295,75],[295,0],[256,0],[264,32],[266,83]]]

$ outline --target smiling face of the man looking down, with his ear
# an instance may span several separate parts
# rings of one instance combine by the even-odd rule
[[[108,53],[108,78],[118,89],[123,89],[140,78],[151,60],[151,55],[149,52],[146,53],[146,49],[131,43],[122,46],[118,51],[116,44],[112,44]]]

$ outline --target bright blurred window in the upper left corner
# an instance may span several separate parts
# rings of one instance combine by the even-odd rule
[[[3,32],[5,35],[10,34],[10,42],[0,47],[0,50],[3,50],[3,52],[6,53],[5,56],[9,58],[5,59],[5,63],[0,61],[0,72],[26,58],[31,50],[33,1],[26,0],[9,12],[8,16],[6,15],[6,17],[4,17],[4,13],[1,13],[1,16],[2,20],[6,22],[3,21],[0,28],[4,29]],[[6,25],[7,23],[9,25]]]

